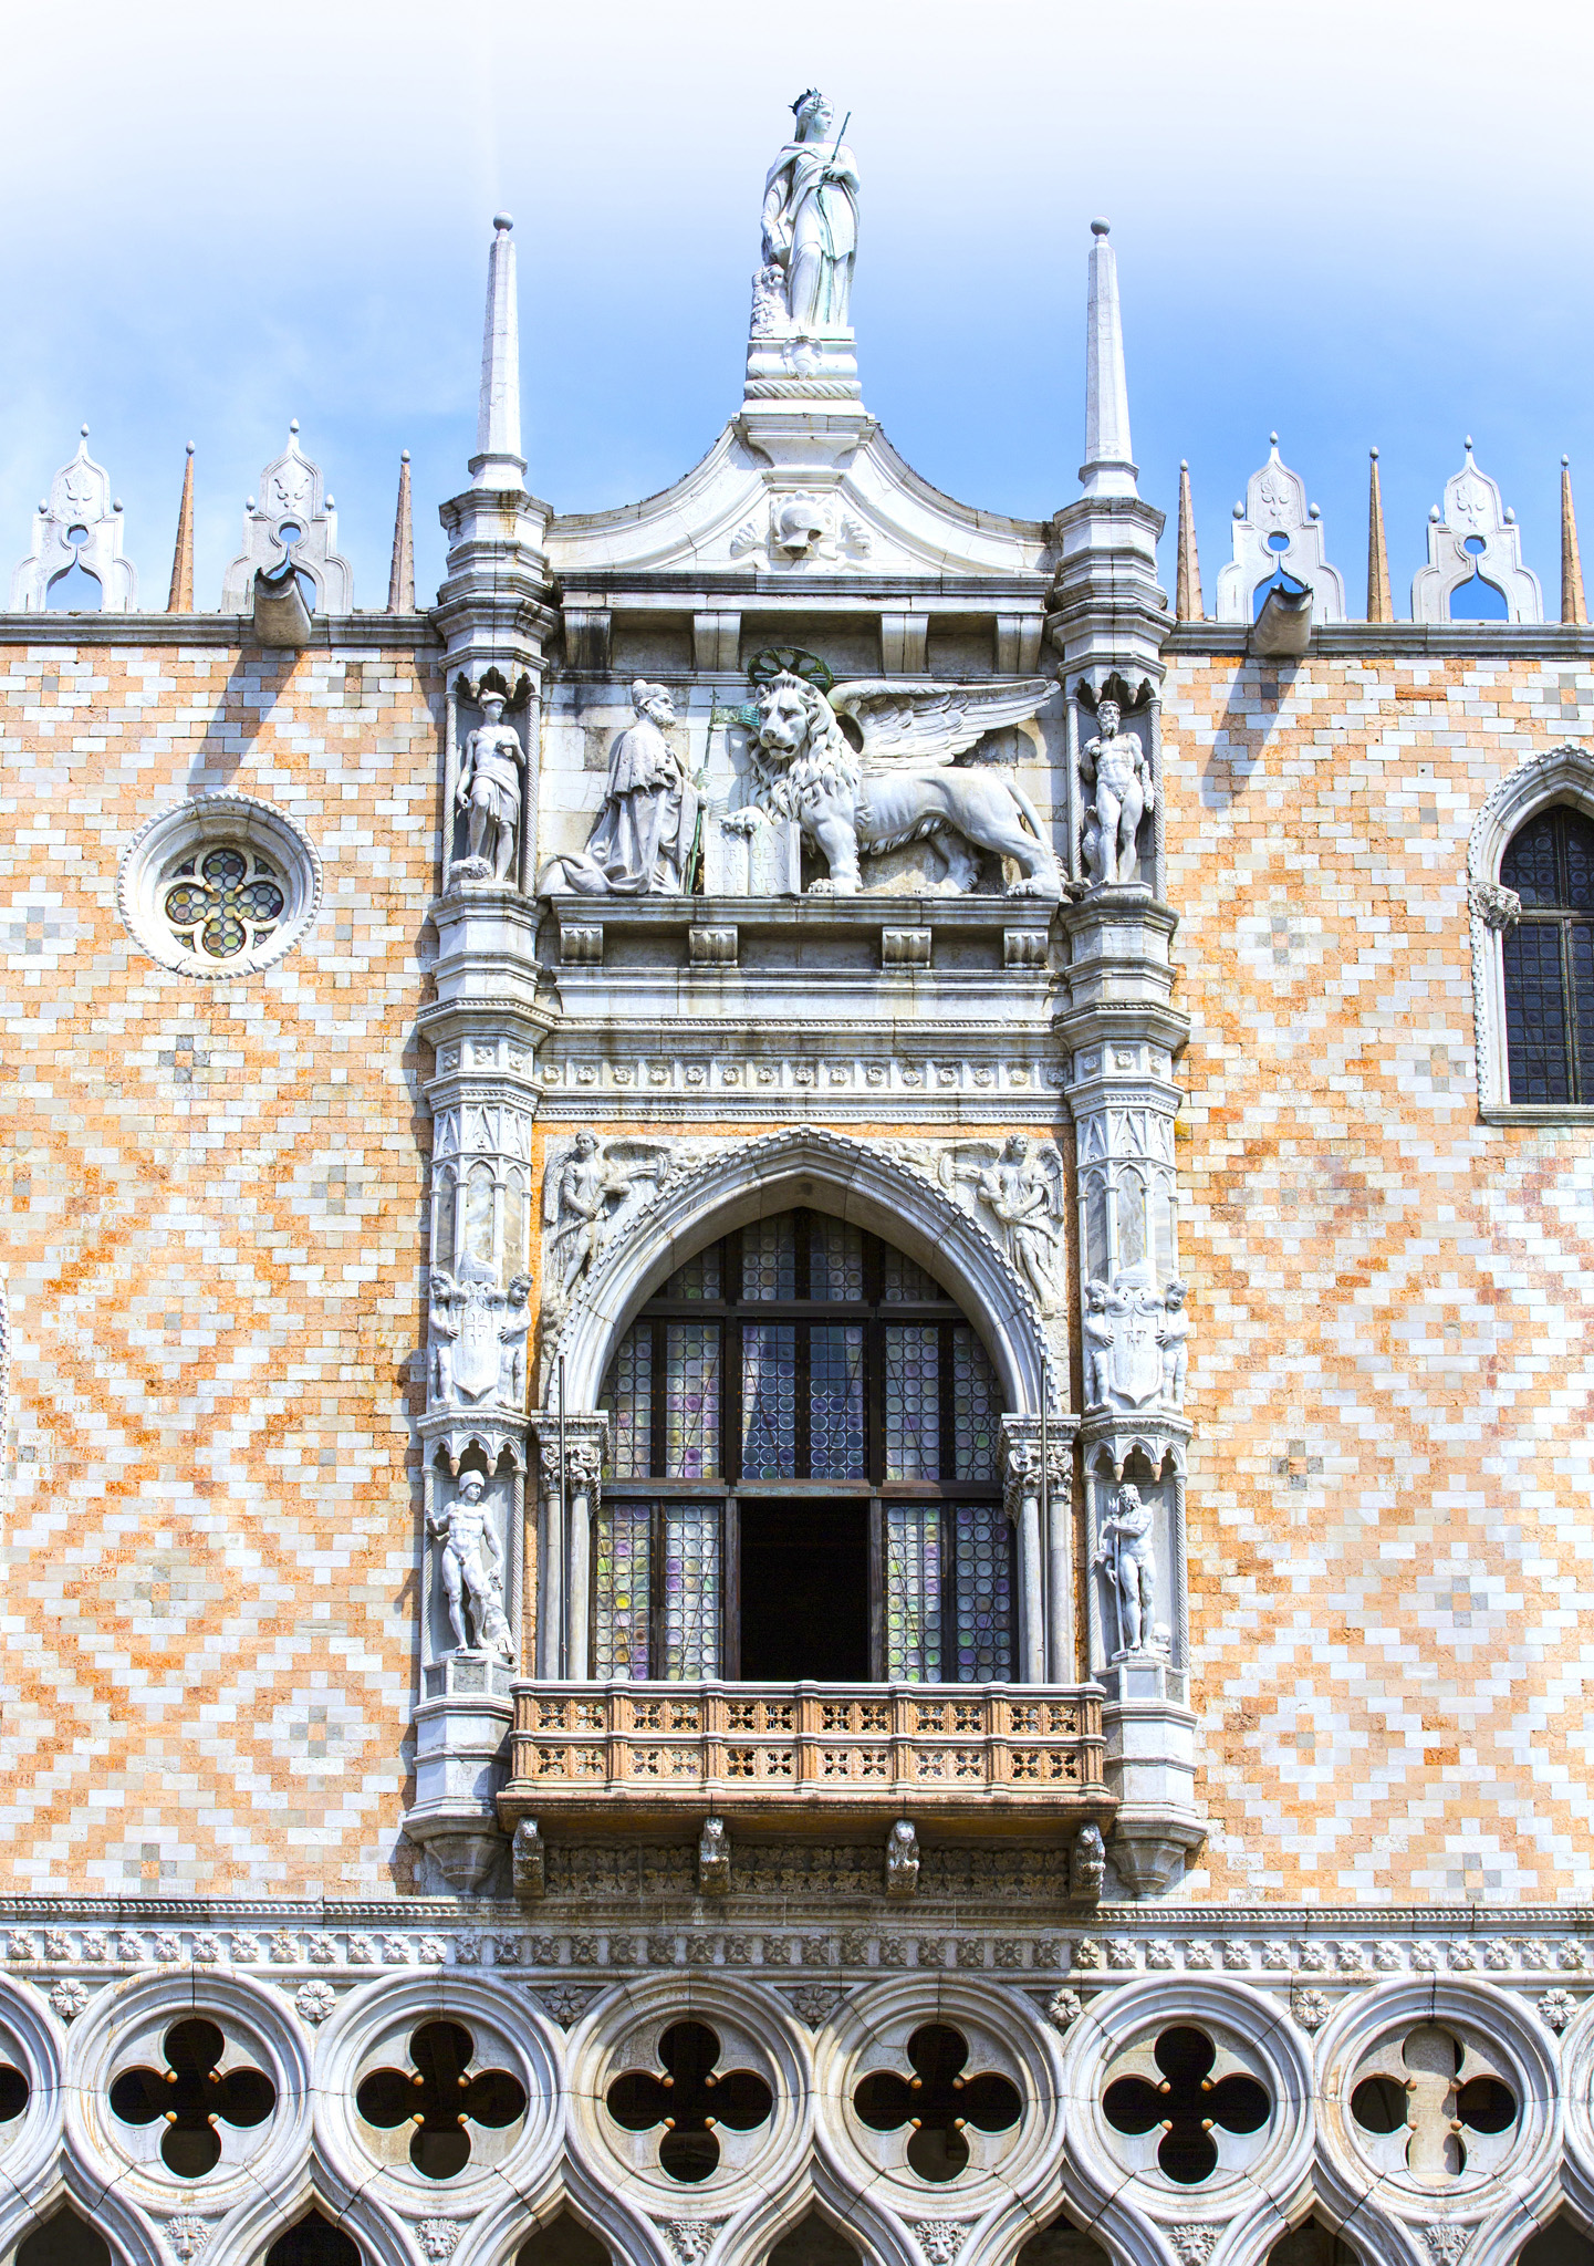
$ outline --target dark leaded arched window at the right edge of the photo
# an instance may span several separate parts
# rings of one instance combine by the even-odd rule
[[[1594,1104],[1594,823],[1537,811],[1499,877],[1522,897],[1501,943],[1510,1099]]]

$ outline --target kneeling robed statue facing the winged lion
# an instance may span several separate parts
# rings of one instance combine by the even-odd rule
[[[663,736],[675,702],[663,684],[636,678],[636,723],[616,732],[609,784],[598,820],[577,857],[543,868],[539,895],[577,891],[584,897],[684,895],[697,838],[697,789]]]

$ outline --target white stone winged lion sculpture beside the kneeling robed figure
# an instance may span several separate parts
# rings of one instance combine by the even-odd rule
[[[971,888],[978,850],[1012,859],[1014,895],[1062,895],[1057,859],[1035,804],[1005,773],[955,759],[985,732],[1023,723],[1055,687],[892,684],[860,678],[829,698],[781,671],[752,705],[759,802],[797,818],[824,854],[838,897],[860,888],[858,854],[935,836],[949,879]]]

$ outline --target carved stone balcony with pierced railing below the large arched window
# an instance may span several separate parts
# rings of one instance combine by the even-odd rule
[[[516,1684],[514,1826],[1109,1826],[1094,1684]]]

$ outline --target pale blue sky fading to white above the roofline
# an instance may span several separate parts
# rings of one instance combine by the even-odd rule
[[[0,573],[79,421],[165,603],[183,442],[197,603],[288,419],[383,605],[398,451],[421,598],[464,487],[491,213],[516,215],[530,485],[679,478],[736,408],[763,172],[817,84],[863,174],[865,401],[969,503],[1078,494],[1085,256],[1112,218],[1141,492],[1196,485],[1211,605],[1277,426],[1397,612],[1463,435],[1558,612],[1594,542],[1594,11],[1544,0],[412,0],[23,9],[0,86]]]

